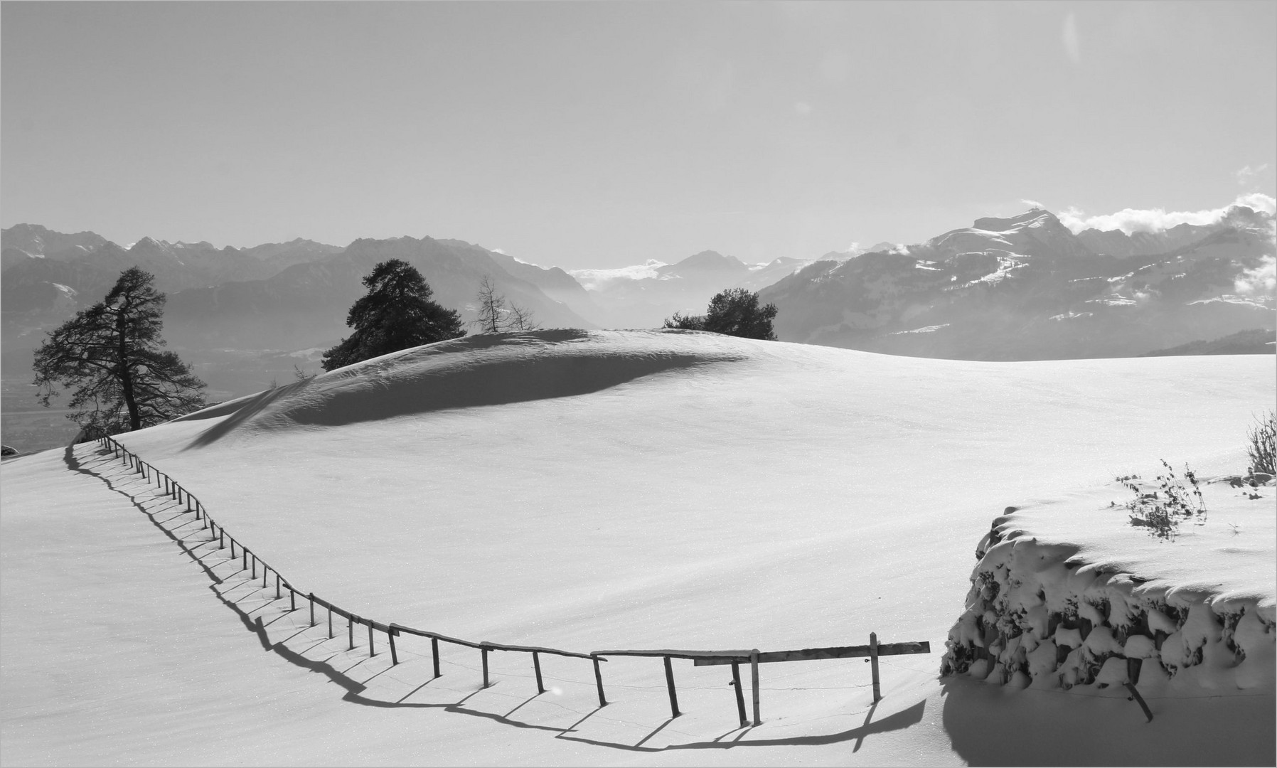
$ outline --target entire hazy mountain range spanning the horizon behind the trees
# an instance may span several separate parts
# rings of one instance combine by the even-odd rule
[[[434,299],[466,321],[489,276],[544,327],[654,327],[674,312],[704,312],[715,293],[739,286],[776,304],[783,341],[921,357],[1125,357],[1274,328],[1273,216],[1244,206],[1212,224],[1135,233],[1074,233],[1032,208],[913,245],[812,259],[747,265],[701,250],[676,263],[572,272],[429,236],[346,247],[152,238],[119,245],[91,231],[19,224],[0,240],[8,374],[24,376],[45,332],[137,265],[169,295],[165,337],[225,395],[267,386],[296,362],[314,369],[318,351],[349,332],[360,279],[387,258],[420,270]]]

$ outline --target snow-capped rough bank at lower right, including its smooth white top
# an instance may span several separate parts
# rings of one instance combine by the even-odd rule
[[[997,518],[977,547],[942,673],[1015,687],[1130,682],[1158,696],[1271,696],[1272,480],[1217,479],[1204,500],[1208,518],[1185,520],[1174,541],[1124,526],[1126,510],[1094,495]]]

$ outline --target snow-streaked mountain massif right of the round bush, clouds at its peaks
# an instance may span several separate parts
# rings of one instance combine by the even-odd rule
[[[776,335],[933,358],[1133,357],[1274,328],[1273,217],[1074,234],[1048,211],[819,259],[765,288]]]

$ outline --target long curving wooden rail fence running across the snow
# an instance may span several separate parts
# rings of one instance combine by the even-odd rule
[[[209,542],[216,541],[218,549],[225,549],[227,542],[231,548],[231,560],[235,560],[235,547],[239,546],[240,549],[240,564],[241,570],[250,570],[252,578],[257,579],[257,566],[262,566],[262,589],[267,588],[267,576],[275,574],[275,598],[282,599],[283,590],[289,592],[289,611],[298,610],[298,597],[300,595],[309,603],[310,612],[310,626],[315,626],[318,622],[315,620],[315,606],[328,611],[328,638],[333,636],[332,617],[340,616],[346,620],[346,633],[350,643],[350,649],[355,648],[355,625],[363,625],[368,627],[368,654],[369,657],[377,656],[374,648],[374,631],[384,633],[387,644],[391,649],[391,663],[397,664],[398,662],[398,648],[396,647],[395,638],[401,635],[416,635],[420,638],[428,638],[430,640],[430,652],[434,664],[434,676],[442,676],[439,671],[439,643],[450,643],[452,645],[462,645],[466,648],[472,648],[479,650],[480,659],[483,664],[483,686],[488,687],[490,684],[488,676],[488,654],[493,650],[502,652],[515,652],[515,653],[530,653],[533,656],[533,671],[536,676],[536,693],[545,693],[545,686],[541,682],[541,663],[540,656],[543,653],[550,656],[562,656],[568,658],[584,658],[590,659],[594,664],[594,681],[595,687],[599,694],[599,707],[607,707],[608,700],[603,691],[603,672],[599,667],[599,662],[607,662],[608,657],[628,656],[628,657],[656,657],[661,658],[665,666],[665,684],[669,690],[669,707],[673,717],[682,714],[678,709],[678,694],[674,687],[674,671],[670,664],[670,659],[691,659],[695,666],[706,664],[732,664],[732,685],[736,687],[736,702],[737,713],[741,718],[741,727],[750,723],[746,718],[744,712],[744,691],[741,685],[741,668],[742,663],[750,664],[750,677],[752,684],[752,699],[753,699],[753,725],[762,725],[762,719],[759,713],[759,664],[767,662],[780,662],[780,661],[810,661],[810,659],[822,659],[822,658],[848,658],[848,657],[861,657],[867,656],[872,661],[872,677],[873,677],[873,700],[881,699],[879,691],[879,668],[877,657],[890,656],[899,653],[930,653],[931,644],[922,643],[890,643],[879,644],[877,635],[870,634],[868,645],[848,645],[836,648],[807,648],[801,650],[778,650],[770,653],[760,653],[757,648],[750,650],[677,650],[677,649],[656,649],[656,650],[591,650],[590,653],[580,653],[575,650],[561,650],[558,648],[543,648],[539,645],[508,645],[504,643],[489,643],[489,641],[472,641],[462,640],[460,638],[450,638],[435,631],[415,629],[402,624],[379,622],[364,616],[359,616],[351,611],[341,608],[329,601],[323,599],[313,592],[303,592],[294,587],[283,575],[267,564],[264,560],[257,556],[253,551],[244,546],[243,542],[235,539],[234,535],[226,533],[226,528],[218,525],[217,521],[212,519],[208,514],[208,509],[190,493],[181,484],[174,480],[166,473],[156,469],[153,465],[144,461],[137,454],[129,451],[114,437],[101,437],[98,438],[98,445],[106,450],[114,451],[115,456],[124,461],[130,469],[140,474],[146,480],[156,483],[158,488],[163,488],[165,495],[176,500],[176,502],[185,503],[188,512],[195,515],[195,520],[203,521],[203,529],[209,532]],[[193,506],[194,505],[194,506]]]

